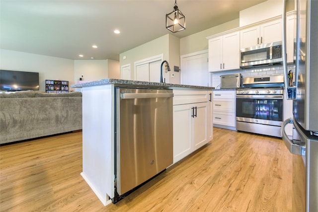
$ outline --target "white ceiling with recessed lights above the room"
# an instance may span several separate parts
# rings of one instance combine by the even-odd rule
[[[0,0],[0,48],[119,60],[120,53],[167,33],[182,38],[239,18],[240,10],[263,1],[177,0],[186,29],[172,33],[165,28],[165,14],[174,0]]]

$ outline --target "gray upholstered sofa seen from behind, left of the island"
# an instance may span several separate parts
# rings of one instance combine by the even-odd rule
[[[81,92],[0,92],[0,144],[82,129]]]

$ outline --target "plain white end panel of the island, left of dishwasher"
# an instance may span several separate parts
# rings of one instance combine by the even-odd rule
[[[114,85],[82,88],[83,171],[100,201],[114,197]],[[108,201],[108,202],[107,202]]]

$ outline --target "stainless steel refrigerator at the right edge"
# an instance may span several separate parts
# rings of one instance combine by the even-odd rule
[[[286,2],[283,0],[283,7]],[[283,15],[283,28],[285,28]],[[283,43],[285,41],[283,32]],[[283,46],[283,52],[286,46]],[[285,51],[286,53],[286,51]],[[285,55],[285,54],[284,54]],[[293,101],[293,119],[282,124],[283,141],[294,154],[301,154],[306,167],[306,212],[318,212],[318,0],[297,0],[295,81],[288,87],[284,64],[286,95]],[[284,131],[294,124],[300,141],[290,140]],[[294,175],[297,173],[293,173]]]

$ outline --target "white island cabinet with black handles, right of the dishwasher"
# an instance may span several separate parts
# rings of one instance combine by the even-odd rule
[[[173,91],[176,100],[173,105],[173,163],[209,141],[208,91],[186,91]]]

